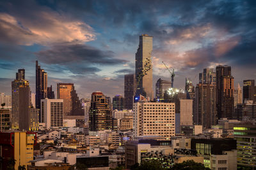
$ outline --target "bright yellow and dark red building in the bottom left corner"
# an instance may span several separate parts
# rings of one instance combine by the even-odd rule
[[[15,167],[27,166],[33,160],[33,148],[36,144],[36,133],[34,132],[1,132],[0,146],[1,155],[1,169],[8,169],[10,166],[10,159],[14,159]]]

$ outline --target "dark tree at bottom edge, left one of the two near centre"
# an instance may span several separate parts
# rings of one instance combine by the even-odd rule
[[[136,167],[134,165],[134,170],[163,170],[162,164],[158,160],[144,160],[141,162],[141,165]],[[131,167],[132,169],[132,167]]]

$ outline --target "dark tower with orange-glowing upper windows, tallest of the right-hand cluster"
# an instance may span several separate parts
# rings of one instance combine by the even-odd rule
[[[218,119],[231,118],[234,109],[234,77],[230,66],[216,67],[216,106]]]

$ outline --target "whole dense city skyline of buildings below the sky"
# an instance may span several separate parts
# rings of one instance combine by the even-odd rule
[[[0,96],[1,169],[256,168],[255,80],[235,89],[231,67],[216,66],[178,89],[166,67],[170,80],[157,80],[154,97],[152,44],[140,36],[134,74],[112,101],[100,91],[79,99],[68,82],[54,93],[38,61],[31,92],[19,69],[12,96]]]

